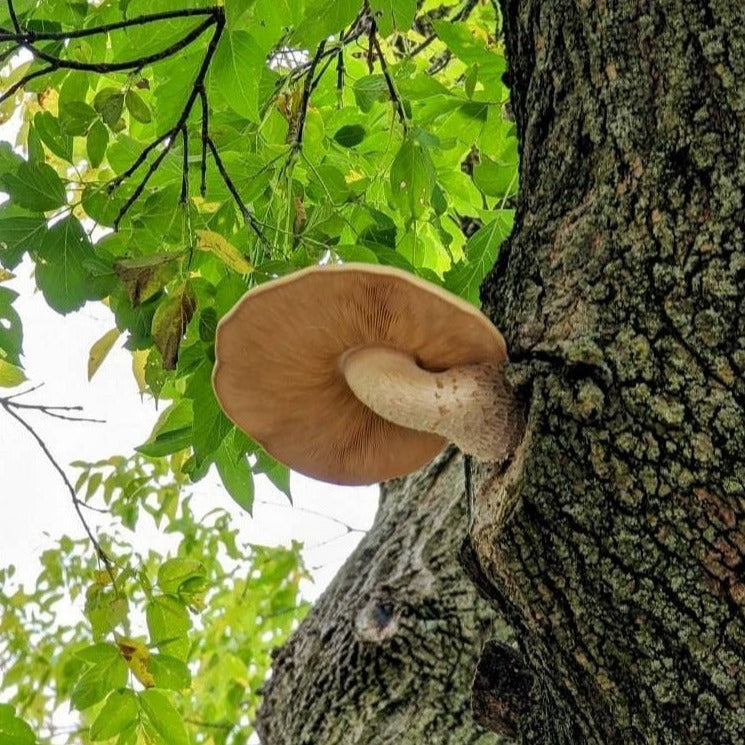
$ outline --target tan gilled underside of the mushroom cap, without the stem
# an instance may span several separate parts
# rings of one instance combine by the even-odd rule
[[[295,471],[337,484],[401,476],[447,443],[354,396],[339,358],[367,344],[408,352],[432,372],[507,356],[486,316],[436,285],[391,267],[314,266],[249,290],[222,319],[215,393],[238,427]]]

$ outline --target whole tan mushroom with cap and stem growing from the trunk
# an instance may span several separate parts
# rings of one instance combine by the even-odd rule
[[[502,335],[407,272],[314,266],[249,290],[219,324],[213,385],[228,417],[292,469],[367,484],[448,441],[502,460],[523,431]]]

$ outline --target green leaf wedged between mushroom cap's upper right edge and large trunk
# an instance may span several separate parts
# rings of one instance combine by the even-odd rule
[[[464,300],[479,305],[479,288],[497,260],[497,252],[512,230],[513,213],[502,210],[477,230],[466,243],[466,258],[445,274],[445,287]]]

